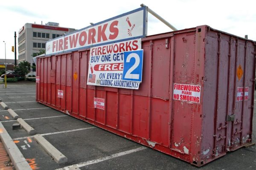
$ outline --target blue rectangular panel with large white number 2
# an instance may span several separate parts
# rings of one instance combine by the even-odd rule
[[[124,52],[123,80],[141,82],[143,67],[143,50]]]

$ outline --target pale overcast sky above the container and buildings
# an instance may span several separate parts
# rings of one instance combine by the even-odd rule
[[[14,59],[14,32],[25,23],[81,29],[144,3],[177,29],[209,25],[256,41],[256,0],[1,0],[0,58]],[[148,14],[148,35],[172,31]],[[18,44],[17,44],[18,47]],[[18,56],[18,54],[17,54]]]

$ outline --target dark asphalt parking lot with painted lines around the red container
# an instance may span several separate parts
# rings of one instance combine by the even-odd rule
[[[68,170],[75,164],[80,164],[81,170],[256,169],[255,145],[227,153],[226,156],[198,168],[35,102],[35,84],[12,84],[7,85],[7,89],[1,86],[0,99],[68,159],[64,164],[57,164],[35,142],[33,136],[22,128],[12,130],[12,125],[17,121],[0,107],[3,126],[33,170]],[[254,108],[253,142],[256,142],[255,110]]]

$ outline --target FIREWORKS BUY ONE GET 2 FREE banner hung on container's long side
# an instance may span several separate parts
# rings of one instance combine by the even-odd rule
[[[87,85],[139,89],[142,81],[141,39],[90,49]]]

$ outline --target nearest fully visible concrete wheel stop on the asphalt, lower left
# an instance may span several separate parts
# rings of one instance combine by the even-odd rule
[[[44,150],[52,156],[52,158],[58,164],[67,162],[67,157],[64,156],[58,149],[56,149],[52,144],[50,144],[43,136],[35,135],[34,139],[44,148]]]

